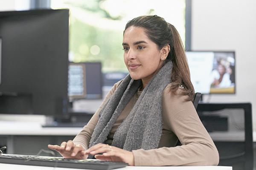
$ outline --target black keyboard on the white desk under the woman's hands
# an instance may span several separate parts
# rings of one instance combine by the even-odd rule
[[[29,156],[15,154],[0,155],[0,163],[36,165],[46,167],[80,168],[91,170],[112,170],[115,168],[126,167],[128,165],[125,162],[117,161],[99,161],[96,159],[64,159],[61,157]]]

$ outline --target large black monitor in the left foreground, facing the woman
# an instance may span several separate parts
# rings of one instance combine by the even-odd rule
[[[67,99],[69,10],[0,12],[0,113],[61,114]]]

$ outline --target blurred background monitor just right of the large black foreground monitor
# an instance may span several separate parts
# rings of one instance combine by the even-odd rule
[[[68,96],[73,99],[102,99],[101,62],[70,62]]]

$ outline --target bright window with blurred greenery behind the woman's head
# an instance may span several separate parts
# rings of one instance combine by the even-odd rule
[[[100,61],[103,72],[127,72],[122,34],[134,17],[157,14],[185,42],[186,0],[51,0],[51,8],[70,9],[70,61]]]

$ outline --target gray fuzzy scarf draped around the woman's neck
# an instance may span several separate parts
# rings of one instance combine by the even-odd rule
[[[116,130],[112,146],[128,151],[158,147],[163,127],[162,94],[171,83],[171,72],[172,62],[169,61],[148,82],[129,115]],[[89,147],[107,140],[116,119],[141,85],[141,80],[131,79],[129,74],[123,79],[103,106]]]

